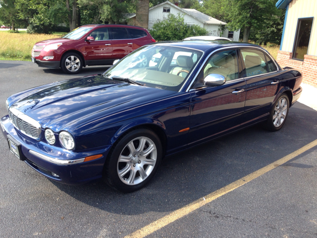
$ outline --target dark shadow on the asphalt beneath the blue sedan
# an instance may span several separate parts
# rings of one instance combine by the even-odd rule
[[[290,109],[288,120],[277,132],[266,131],[263,124],[257,124],[166,157],[155,178],[145,188],[133,193],[114,191],[100,180],[79,186],[52,183],[69,196],[109,213],[171,212],[316,139],[317,111],[300,104],[300,107],[294,105]],[[299,163],[285,165],[280,169],[289,169],[290,166],[312,169]]]

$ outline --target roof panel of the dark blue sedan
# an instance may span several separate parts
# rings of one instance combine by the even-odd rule
[[[196,40],[196,41],[163,41],[163,42],[156,42],[150,45],[168,45],[168,46],[176,46],[176,47],[186,47],[200,51],[208,51],[209,49],[218,49],[218,48],[225,48],[225,47],[234,47],[234,46],[255,46],[259,47],[258,45],[254,45],[251,43],[244,43],[244,42],[233,42],[233,41],[206,41],[206,40]]]

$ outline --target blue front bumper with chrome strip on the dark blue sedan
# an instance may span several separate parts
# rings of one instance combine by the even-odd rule
[[[84,151],[68,151],[22,134],[12,125],[8,116],[3,117],[0,124],[5,139],[9,134],[21,144],[22,154],[26,158],[24,162],[47,178],[75,185],[102,177],[110,145]],[[83,160],[99,154],[103,155],[99,159],[88,162]],[[12,158],[16,159],[13,155]]]

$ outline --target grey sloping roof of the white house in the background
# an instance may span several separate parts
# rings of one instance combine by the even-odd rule
[[[196,9],[180,8],[169,1],[164,1],[162,3],[159,3],[158,5],[151,7],[149,9],[149,11],[151,11],[152,9],[157,8],[161,5],[164,5],[165,3],[171,5],[172,7],[175,7],[176,9],[184,12],[187,15],[190,15],[191,17],[195,18],[196,20],[199,20],[200,22],[202,22],[204,24],[208,24],[208,25],[226,25],[227,24],[223,21],[219,21],[219,20],[217,20],[209,15],[206,15],[206,14],[204,14]],[[132,17],[135,17],[135,13],[133,15],[130,15],[127,18],[132,18]]]

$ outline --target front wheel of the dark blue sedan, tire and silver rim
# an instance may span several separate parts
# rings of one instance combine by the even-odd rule
[[[141,141],[145,141],[143,148],[141,148]],[[131,152],[131,143],[135,150],[141,148],[139,151],[142,152]],[[130,147],[128,145],[130,145]],[[150,150],[153,145],[153,148],[156,149],[153,149],[149,155],[143,156],[148,152],[147,149]],[[125,159],[126,161],[124,162],[119,162],[119,158],[123,157],[128,159]],[[154,157],[156,157],[156,159],[153,159]],[[120,138],[109,152],[104,167],[104,181],[110,187],[118,191],[124,193],[134,192],[144,187],[155,176],[159,169],[161,159],[162,145],[158,135],[146,128],[132,130]],[[156,162],[154,163],[154,161]],[[152,166],[146,163],[154,163],[154,165]],[[119,177],[120,172],[122,174],[121,177]]]

